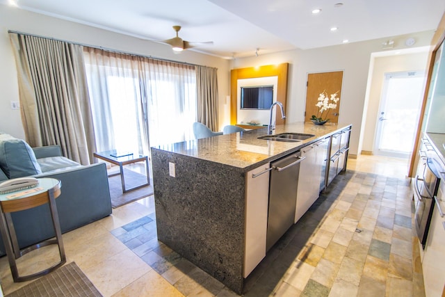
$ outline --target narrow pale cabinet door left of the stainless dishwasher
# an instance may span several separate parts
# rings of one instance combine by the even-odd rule
[[[247,173],[245,194],[245,250],[243,278],[266,257],[269,164]]]

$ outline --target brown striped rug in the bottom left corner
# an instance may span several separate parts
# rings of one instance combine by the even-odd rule
[[[88,280],[75,262],[66,264],[56,271],[14,291],[6,297],[54,297],[54,296],[102,296]]]

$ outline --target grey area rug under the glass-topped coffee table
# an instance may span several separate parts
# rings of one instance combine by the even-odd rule
[[[147,183],[145,175],[141,175],[133,170],[124,169],[124,177],[126,188],[133,188],[134,186]],[[122,193],[120,175],[108,177],[108,184],[110,185],[111,206],[113,208],[153,195],[152,182],[148,186],[143,186],[127,193]]]

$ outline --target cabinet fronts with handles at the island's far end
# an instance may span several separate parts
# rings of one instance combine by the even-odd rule
[[[327,166],[326,186],[329,185],[334,177],[346,169],[348,160],[350,127],[343,129],[331,136],[330,159]]]

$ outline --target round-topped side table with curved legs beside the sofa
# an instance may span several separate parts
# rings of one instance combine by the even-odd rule
[[[26,282],[28,280],[39,278],[40,276],[50,273],[66,263],[62,232],[60,230],[60,222],[56,207],[56,198],[58,198],[60,195],[61,182],[58,179],[53,178],[39,178],[38,181],[39,184],[38,186],[35,186],[35,188],[29,188],[13,193],[0,194],[0,232],[6,248],[6,255],[8,256],[8,262],[11,273],[13,274],[14,282]],[[56,233],[56,239],[42,241],[33,246],[20,250],[11,213],[31,209],[46,203],[49,204],[49,209],[51,211],[51,219],[54,231]],[[20,276],[15,260],[19,259],[19,257],[22,257],[26,253],[31,252],[32,250],[42,248],[43,246],[48,246],[50,244],[58,245],[60,262],[37,273]]]

